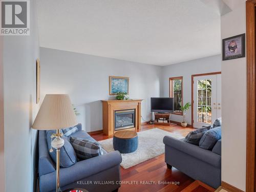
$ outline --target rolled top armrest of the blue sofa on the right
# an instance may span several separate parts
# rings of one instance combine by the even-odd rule
[[[221,156],[212,153],[209,150],[200,148],[197,145],[193,145],[182,140],[178,140],[173,137],[165,136],[163,138],[163,143],[167,146],[173,147],[183,153],[193,156],[203,162],[211,164],[215,167],[221,167]],[[175,157],[174,157],[175,158]]]

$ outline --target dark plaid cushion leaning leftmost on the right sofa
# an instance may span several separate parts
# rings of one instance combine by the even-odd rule
[[[184,141],[187,143],[198,145],[199,141],[203,137],[204,133],[206,133],[210,129],[211,129],[211,126],[209,125],[209,126],[201,128],[201,129],[198,129],[196,131],[191,131],[191,132],[189,132],[189,134],[187,134]]]

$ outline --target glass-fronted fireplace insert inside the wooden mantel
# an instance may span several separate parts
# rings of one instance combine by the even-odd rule
[[[135,127],[135,109],[116,110],[115,112],[115,131]]]

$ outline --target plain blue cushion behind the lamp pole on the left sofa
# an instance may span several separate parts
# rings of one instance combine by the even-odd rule
[[[48,131],[46,135],[49,153],[51,149],[51,135],[53,133],[56,133],[56,132],[54,130]],[[65,143],[60,148],[60,155],[59,155],[60,166],[69,167],[71,165],[74,165],[77,162],[76,153],[71,143],[69,142],[69,140],[66,137],[61,137],[61,138],[64,139]],[[50,153],[50,156],[53,159],[53,161],[56,163],[56,150],[55,148],[52,148],[52,149],[53,149],[53,152]]]

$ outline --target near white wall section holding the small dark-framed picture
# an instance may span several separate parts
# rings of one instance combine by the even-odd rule
[[[226,1],[221,38],[246,32],[245,0]],[[245,191],[246,58],[222,61],[222,181]]]

